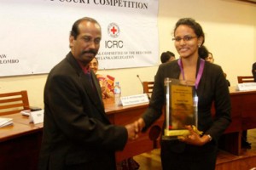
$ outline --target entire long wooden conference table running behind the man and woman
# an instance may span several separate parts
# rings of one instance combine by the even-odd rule
[[[239,91],[230,88],[232,122],[226,129],[219,144],[223,150],[239,156],[241,154],[241,132],[256,128],[256,91]],[[137,120],[148,107],[148,103],[130,106],[114,105],[112,99],[104,99],[105,110],[110,122],[125,125]],[[33,124],[28,116],[7,115],[13,118],[13,125],[0,128],[0,169],[36,169],[38,152],[42,141],[43,123]],[[164,114],[141,133],[136,140],[129,140],[122,151],[116,152],[116,160],[122,161],[131,156],[160,148],[160,128]]]

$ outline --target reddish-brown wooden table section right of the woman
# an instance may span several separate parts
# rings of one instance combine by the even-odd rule
[[[239,156],[242,131],[256,128],[256,91],[236,91],[236,87],[230,87],[230,99],[232,122],[220,139],[219,146]]]

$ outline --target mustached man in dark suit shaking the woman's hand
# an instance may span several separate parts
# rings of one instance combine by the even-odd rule
[[[133,124],[112,125],[89,63],[102,38],[96,20],[73,24],[71,52],[49,72],[44,88],[44,135],[38,169],[115,169],[115,150],[136,139]]]

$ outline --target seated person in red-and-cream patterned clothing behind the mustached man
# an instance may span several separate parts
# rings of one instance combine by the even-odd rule
[[[99,62],[98,59],[94,58],[90,61],[90,69],[96,74],[98,71]],[[102,98],[112,98],[113,97],[113,81],[114,77],[103,77],[102,75],[96,74],[98,78],[101,88],[102,88]]]

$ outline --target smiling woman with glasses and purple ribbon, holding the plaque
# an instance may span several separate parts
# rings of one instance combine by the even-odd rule
[[[218,138],[231,121],[230,94],[224,72],[220,66],[201,59],[199,51],[205,36],[195,20],[178,20],[173,40],[180,59],[159,66],[148,109],[136,123],[139,129],[145,131],[162,114],[162,108],[166,104],[166,77],[197,82],[198,129],[203,134],[199,135],[187,126],[190,134],[186,138],[161,140],[161,163],[163,170],[214,170]],[[201,62],[203,70],[199,78]],[[213,103],[214,116],[211,112]]]

